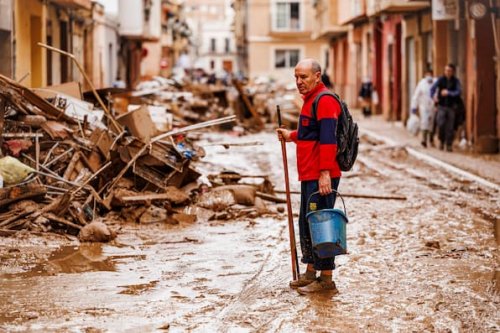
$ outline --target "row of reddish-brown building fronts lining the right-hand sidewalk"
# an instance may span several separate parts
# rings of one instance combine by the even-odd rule
[[[405,121],[427,69],[457,66],[466,105],[464,136],[480,153],[499,149],[499,1],[315,1],[313,37],[327,40],[334,87],[353,106],[362,80],[379,97],[376,113]],[[344,31],[342,29],[345,29]]]

